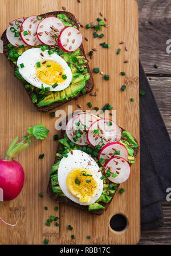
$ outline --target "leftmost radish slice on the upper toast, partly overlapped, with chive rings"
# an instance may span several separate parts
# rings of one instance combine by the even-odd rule
[[[6,30],[6,37],[9,40],[11,44],[15,47],[19,47],[22,44],[26,46],[27,44],[23,43],[21,36],[19,34],[21,25],[23,23],[24,19],[19,18],[19,19],[14,19],[14,21],[11,21],[9,23],[9,26],[7,27]]]

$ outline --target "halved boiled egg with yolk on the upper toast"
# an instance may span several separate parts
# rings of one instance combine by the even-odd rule
[[[40,48],[31,48],[23,52],[17,61],[19,73],[32,86],[48,88],[49,91],[61,91],[72,80],[70,67],[58,54],[48,54]],[[46,90],[46,89],[45,89]]]

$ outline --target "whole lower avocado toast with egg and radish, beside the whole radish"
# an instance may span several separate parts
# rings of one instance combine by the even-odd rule
[[[83,123],[82,117],[84,120],[86,117],[87,121]],[[89,127],[91,117],[92,124]],[[107,210],[119,185],[129,177],[129,169],[135,163],[139,151],[136,139],[123,128],[117,127],[112,120],[107,130],[117,128],[117,140],[116,133],[111,132],[111,137],[107,137],[105,128],[103,131],[100,129],[103,121],[105,119],[86,112],[80,112],[74,117],[72,114],[67,116],[62,124],[47,186],[47,194],[54,200],[97,215]],[[96,123],[99,131],[94,129]],[[79,126],[74,127],[75,124]],[[100,133],[103,133],[100,137],[105,139],[96,143]],[[93,194],[93,189],[97,187],[99,190]]]

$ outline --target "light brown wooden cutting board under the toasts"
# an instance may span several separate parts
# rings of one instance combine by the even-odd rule
[[[88,38],[88,42],[83,40],[86,53],[97,47],[94,58],[89,61],[91,70],[93,67],[100,67],[104,74],[110,75],[110,79],[106,81],[100,74],[93,74],[94,91],[97,91],[98,95],[85,95],[77,101],[71,101],[70,105],[73,110],[78,108],[77,104],[82,105],[84,110],[88,109],[88,101],[91,101],[93,107],[102,108],[105,103],[113,105],[117,124],[131,132],[139,141],[139,37],[138,7],[135,0],[81,0],[81,3],[76,0],[1,0],[1,6],[1,34],[15,18],[62,10],[62,6],[75,14],[83,25],[96,22],[102,11],[103,18],[106,17],[109,24],[108,28],[104,27],[102,30],[104,38],[93,38],[91,29],[80,30],[83,36]],[[125,43],[119,44],[121,40]],[[111,48],[102,48],[99,46],[101,42],[110,43]],[[128,51],[124,50],[125,46],[128,46]],[[121,48],[119,55],[116,54],[118,48]],[[124,63],[126,59],[129,60],[127,64]],[[44,123],[50,129],[48,139],[33,140],[30,148],[16,158],[25,170],[25,185],[14,201],[0,203],[0,216],[7,222],[18,224],[10,227],[0,223],[0,243],[42,244],[44,238],[49,239],[51,244],[137,243],[140,238],[139,154],[136,164],[131,167],[129,180],[121,185],[125,193],[117,193],[102,216],[94,216],[63,204],[59,205],[56,212],[54,207],[58,204],[47,197],[46,188],[55,157],[56,142],[53,141],[53,135],[57,133],[55,121],[58,118],[36,111],[3,54],[0,55],[0,70],[0,156],[5,156],[15,136],[26,135],[29,126]],[[125,71],[126,75],[121,76],[121,71]],[[121,92],[120,87],[123,84],[126,84],[127,88]],[[134,98],[133,102],[130,101],[131,97]],[[67,111],[67,105],[60,109]],[[45,154],[42,160],[38,159],[40,153]],[[43,198],[39,197],[41,191]],[[44,210],[44,206],[47,206],[48,210]],[[124,214],[128,218],[124,231],[116,232],[109,227],[109,220],[116,213]],[[59,227],[45,225],[51,215],[59,217]],[[68,225],[72,225],[74,230],[68,230]],[[71,239],[72,234],[75,239]],[[87,235],[91,235],[91,239],[87,239]]]

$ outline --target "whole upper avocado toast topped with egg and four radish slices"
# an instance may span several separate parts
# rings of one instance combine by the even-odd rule
[[[9,23],[3,53],[38,111],[88,94],[94,82],[74,14],[54,11]]]

